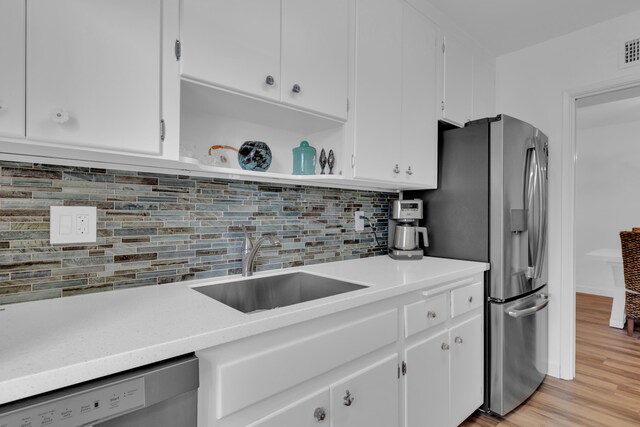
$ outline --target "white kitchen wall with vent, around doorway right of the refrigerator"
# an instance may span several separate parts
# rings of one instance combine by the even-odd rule
[[[561,282],[560,265],[563,96],[565,91],[604,85],[615,79],[640,79],[640,67],[618,68],[618,46],[622,40],[640,36],[638,22],[640,12],[634,12],[503,55],[496,64],[498,112],[528,121],[549,137],[549,373],[554,376],[573,375],[561,371],[569,357],[566,343],[561,343],[562,329],[573,321],[573,313],[562,313],[563,307],[570,309],[572,303],[561,300],[562,287],[572,286]]]

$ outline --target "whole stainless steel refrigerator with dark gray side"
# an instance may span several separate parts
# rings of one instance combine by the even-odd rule
[[[547,372],[547,137],[499,115],[443,131],[424,200],[429,256],[484,261],[485,403],[505,415]]]

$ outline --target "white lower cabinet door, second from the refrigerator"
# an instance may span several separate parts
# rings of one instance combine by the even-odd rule
[[[405,350],[405,427],[450,424],[448,345],[443,331]]]

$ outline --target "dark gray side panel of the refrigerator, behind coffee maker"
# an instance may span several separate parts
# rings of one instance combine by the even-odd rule
[[[424,201],[425,254],[489,262],[489,126],[449,130],[438,141],[438,189],[407,191]]]

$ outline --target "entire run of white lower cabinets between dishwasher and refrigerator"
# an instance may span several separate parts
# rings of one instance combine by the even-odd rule
[[[458,425],[482,403],[482,275],[441,285],[197,352],[199,426]]]

